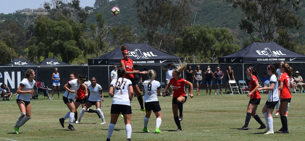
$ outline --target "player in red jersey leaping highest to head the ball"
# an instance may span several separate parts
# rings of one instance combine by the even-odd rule
[[[121,68],[123,68],[125,70],[124,78],[129,79],[132,83],[133,91],[137,95],[139,104],[141,106],[140,110],[145,111],[145,108],[144,108],[144,105],[143,105],[142,94],[141,94],[141,91],[139,89],[139,86],[137,85],[137,83],[135,83],[135,79],[134,79],[133,74],[135,74],[135,73],[146,74],[147,71],[140,72],[139,70],[134,70],[133,69],[133,61],[131,59],[129,59],[129,52],[126,49],[127,49],[126,46],[124,46],[124,45],[121,46],[121,50],[122,50],[122,54],[123,54],[124,59],[120,60],[120,65],[121,65]]]

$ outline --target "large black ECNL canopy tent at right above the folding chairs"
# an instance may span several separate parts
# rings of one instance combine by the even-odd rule
[[[280,63],[281,61],[285,61],[287,63],[303,63],[305,62],[305,55],[286,49],[276,44],[275,42],[268,42],[268,43],[253,42],[246,48],[243,48],[231,55],[219,57],[218,61],[220,64],[241,63],[242,73],[245,74],[244,72],[245,63],[271,64],[271,63]],[[261,72],[263,71],[265,70],[261,70]]]

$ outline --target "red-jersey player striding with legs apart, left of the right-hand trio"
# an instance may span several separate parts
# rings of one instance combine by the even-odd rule
[[[250,66],[249,68],[247,68],[247,76],[250,76],[250,89],[246,89],[246,88],[242,88],[242,91],[250,91],[247,96],[250,97],[250,101],[248,104],[248,108],[247,108],[247,116],[246,116],[246,121],[245,121],[245,125],[242,126],[241,129],[239,130],[248,130],[248,124],[249,121],[251,119],[251,115],[253,116],[253,118],[260,124],[260,128],[258,129],[264,129],[266,128],[266,125],[264,124],[264,122],[262,122],[262,120],[260,119],[260,117],[256,114],[256,109],[257,106],[260,104],[260,92],[257,90],[260,87],[260,84],[257,81],[257,73],[256,73],[256,69],[254,69],[252,66]]]

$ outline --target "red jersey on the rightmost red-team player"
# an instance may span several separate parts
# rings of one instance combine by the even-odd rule
[[[280,79],[278,79],[278,81],[282,81],[283,82],[283,88],[281,90],[281,99],[291,98],[291,93],[290,93],[290,82],[291,82],[291,79],[287,75],[287,73],[286,72],[283,73],[280,76]]]

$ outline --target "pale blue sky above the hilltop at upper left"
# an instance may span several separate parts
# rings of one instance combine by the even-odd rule
[[[80,0],[80,6],[86,7],[90,6],[93,7],[95,0]],[[29,9],[37,9],[39,7],[42,8],[42,4],[44,2],[50,2],[50,0],[0,0],[0,13],[8,14],[13,13],[16,10],[23,8]],[[70,2],[70,0],[68,0]]]

